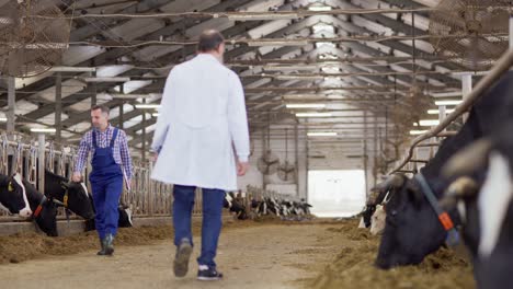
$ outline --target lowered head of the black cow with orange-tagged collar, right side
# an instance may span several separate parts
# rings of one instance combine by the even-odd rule
[[[397,182],[387,204],[385,231],[376,265],[419,264],[445,241],[446,232],[415,178]]]

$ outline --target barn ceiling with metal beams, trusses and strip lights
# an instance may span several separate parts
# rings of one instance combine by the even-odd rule
[[[123,123],[130,146],[142,148],[145,134],[148,148],[157,111],[135,104],[160,102],[169,70],[194,57],[195,41],[205,28],[217,28],[227,38],[225,62],[243,82],[251,132],[289,124],[300,134],[338,134],[309,138],[315,151],[340,144],[338,150],[354,154],[363,140],[373,147],[377,138],[403,134],[389,115],[412,84],[425,97],[458,95],[460,76],[454,72],[468,70],[435,55],[429,43],[429,9],[437,0],[53,2],[71,16],[61,66],[94,71],[16,78],[16,130],[55,126],[56,85],[61,82],[62,139],[69,143],[90,128],[89,108],[96,102],[111,107],[113,124]],[[7,77],[2,80],[0,107],[5,111]],[[286,106],[312,103],[320,105]],[[271,134],[284,137],[278,128]]]

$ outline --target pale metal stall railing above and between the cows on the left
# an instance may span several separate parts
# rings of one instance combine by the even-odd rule
[[[44,152],[41,153],[41,149]],[[55,142],[45,141],[39,147],[36,140],[19,132],[0,131],[0,173],[12,174],[20,173],[26,181],[34,184],[42,192],[38,163],[43,162],[42,167],[70,178],[73,166],[77,161],[78,148],[75,146],[60,146]],[[90,166],[84,167],[84,176],[89,174]],[[42,175],[44,172],[41,172]],[[121,198],[123,205],[127,205],[135,218],[137,217],[159,217],[171,215],[172,185],[152,181],[151,163],[134,162],[133,188],[124,193]],[[44,178],[44,177],[43,177]],[[194,213],[202,211],[201,194],[196,192],[196,205]],[[64,209],[59,209],[58,219],[65,219]],[[71,219],[79,217],[71,216]],[[0,222],[20,221],[18,217],[10,216],[5,211],[0,211]]]

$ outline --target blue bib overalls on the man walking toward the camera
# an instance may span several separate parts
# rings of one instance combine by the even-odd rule
[[[100,239],[106,234],[116,235],[119,212],[119,196],[123,190],[123,172],[119,164],[114,161],[114,141],[117,137],[117,128],[114,128],[111,143],[106,148],[96,144],[96,131],[92,131],[94,155],[92,158],[92,172],[89,175],[92,197],[96,210],[95,223]]]

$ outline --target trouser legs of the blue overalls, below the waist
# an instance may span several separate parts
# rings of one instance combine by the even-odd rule
[[[100,239],[106,234],[116,235],[119,212],[119,196],[123,192],[123,175],[91,182],[92,197],[94,203],[94,222]]]

